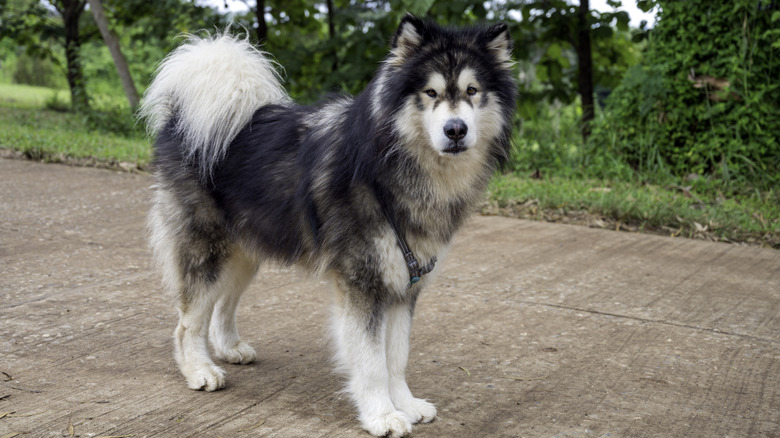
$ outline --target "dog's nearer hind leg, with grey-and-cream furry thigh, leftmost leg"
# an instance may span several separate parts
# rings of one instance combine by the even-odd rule
[[[164,283],[177,299],[179,323],[173,343],[179,370],[191,389],[220,389],[225,386],[225,371],[209,355],[209,323],[214,304],[231,284],[224,268],[230,266],[235,245],[210,199],[196,187],[180,193],[159,187],[149,228]]]

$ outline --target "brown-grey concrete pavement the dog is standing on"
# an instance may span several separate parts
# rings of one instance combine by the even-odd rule
[[[0,437],[367,437],[329,290],[265,269],[258,351],[188,390],[145,242],[151,179],[0,160]],[[415,437],[780,437],[780,251],[475,217],[418,304]],[[10,413],[10,414],[8,414]]]

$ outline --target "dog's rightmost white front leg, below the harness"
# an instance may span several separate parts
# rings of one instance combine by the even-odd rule
[[[413,312],[414,299],[397,303],[388,312],[387,368],[390,373],[390,397],[395,407],[406,414],[412,423],[429,423],[436,418],[436,406],[414,398],[406,384]]]

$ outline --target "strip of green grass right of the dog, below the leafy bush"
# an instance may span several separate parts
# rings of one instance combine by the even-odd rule
[[[488,213],[780,249],[780,193],[735,197],[692,187],[577,178],[501,175]]]

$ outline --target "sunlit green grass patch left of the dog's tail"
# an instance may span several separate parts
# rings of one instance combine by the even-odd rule
[[[42,109],[0,107],[0,147],[43,161],[95,159],[145,167],[149,141],[90,129],[84,115]]]

